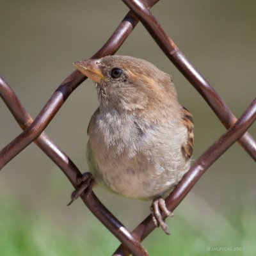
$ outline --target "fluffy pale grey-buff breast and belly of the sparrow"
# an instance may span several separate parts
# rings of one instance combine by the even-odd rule
[[[186,136],[182,129],[147,124],[134,116],[99,115],[90,130],[96,172],[116,193],[132,198],[161,195],[188,170],[180,151]]]

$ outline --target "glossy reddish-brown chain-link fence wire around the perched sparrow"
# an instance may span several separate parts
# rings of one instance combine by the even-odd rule
[[[177,45],[174,44],[172,39],[165,33],[164,29],[161,28],[161,25],[157,22],[154,15],[149,11],[158,1],[159,0],[123,0],[131,11],[127,13],[124,20],[120,22],[106,44],[104,44],[92,58],[115,54],[140,20],[166,56],[202,97],[204,97],[207,104],[209,104],[222,124],[228,129],[219,140],[196,160],[178,186],[172,191],[168,198],[166,198],[168,208],[173,211],[209,166],[211,166],[211,164],[234,142],[239,141],[246,152],[256,160],[256,142],[252,136],[246,132],[256,118],[256,99],[253,100],[252,104],[250,104],[244,114],[237,120],[221,99],[220,95],[215,92],[214,88],[212,88],[204,77],[202,77],[185,58],[184,54],[180,52]],[[36,145],[60,167],[76,188],[77,177],[81,176],[81,172],[79,172],[76,165],[60,148],[54,145],[52,140],[43,131],[49,122],[51,122],[52,118],[54,118],[68,96],[79,84],[83,83],[86,78],[87,77],[84,77],[77,70],[72,72],[72,74],[61,83],[56,92],[53,93],[52,97],[48,100],[47,104],[45,104],[38,116],[36,116],[34,121],[26,109],[24,109],[10,86],[8,86],[3,79],[0,79],[0,95],[20,127],[24,130],[24,132],[1,150],[0,170],[13,157],[17,156],[19,152],[34,141]],[[131,234],[131,232],[102,205],[94,193],[90,193],[87,196],[82,195],[81,198],[93,214],[121,241],[122,245],[116,250],[115,255],[129,255],[129,253],[133,255],[147,255],[147,251],[140,244],[140,241],[145,239],[155,228],[150,216],[141,222]]]

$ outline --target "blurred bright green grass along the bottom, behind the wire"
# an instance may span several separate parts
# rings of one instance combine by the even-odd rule
[[[119,244],[99,221],[87,222],[84,218],[86,227],[70,234],[67,227],[56,230],[51,222],[39,214],[35,216],[24,211],[24,205],[19,202],[1,202],[1,256],[111,255]],[[209,206],[203,204],[202,209],[207,207]],[[229,212],[228,220],[218,213],[207,211],[205,213],[211,214],[212,220],[209,221],[210,216],[207,216],[209,222],[205,223],[203,230],[198,228],[202,223],[194,215],[195,211],[191,211],[188,216],[175,216],[168,221],[172,230],[171,236],[165,236],[158,229],[143,243],[148,253],[184,256],[255,255],[256,223],[253,209],[243,209],[235,216]]]

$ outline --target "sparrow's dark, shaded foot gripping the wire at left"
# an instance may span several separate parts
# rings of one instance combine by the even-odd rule
[[[94,179],[92,177],[92,173],[83,173],[83,175],[77,179],[77,189],[72,192],[71,201],[68,203],[68,205],[72,204],[83,193],[85,193],[85,196],[91,193],[93,185]]]

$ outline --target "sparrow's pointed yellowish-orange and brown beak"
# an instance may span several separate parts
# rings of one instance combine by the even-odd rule
[[[107,77],[102,74],[99,66],[99,60],[81,60],[73,63],[73,65],[96,83],[100,83],[101,80],[107,81]]]

